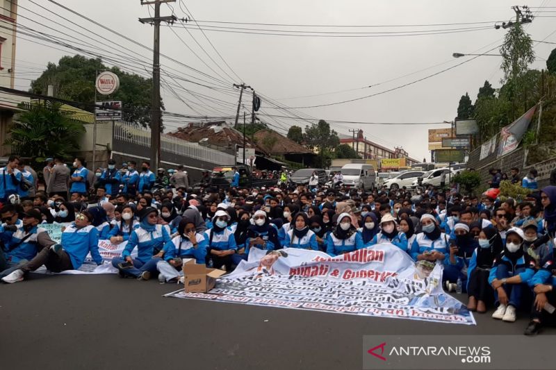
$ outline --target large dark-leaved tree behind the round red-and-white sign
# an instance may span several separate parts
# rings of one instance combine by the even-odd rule
[[[95,103],[95,79],[97,72],[111,71],[120,78],[120,89],[110,96],[98,96],[100,100],[121,100],[125,121],[146,126],[151,117],[152,79],[137,74],[108,68],[100,59],[84,56],[64,56],[56,63],[50,62],[39,78],[31,82],[31,92],[46,94],[48,85],[54,85],[54,96],[83,103],[83,109],[93,112]],[[163,107],[163,104],[162,104]]]

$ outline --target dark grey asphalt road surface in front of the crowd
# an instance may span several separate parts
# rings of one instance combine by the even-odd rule
[[[0,368],[361,369],[363,335],[521,335],[528,322],[475,314],[477,326],[464,326],[162,297],[174,290],[114,275],[31,274],[1,285]]]

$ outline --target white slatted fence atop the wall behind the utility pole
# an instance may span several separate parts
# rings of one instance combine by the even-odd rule
[[[114,138],[122,142],[129,142],[130,144],[147,148],[151,147],[151,131],[148,128],[142,128],[122,121],[114,123]],[[206,148],[195,142],[187,142],[167,134],[161,135],[161,151],[217,165],[232,164],[235,161],[234,155]]]

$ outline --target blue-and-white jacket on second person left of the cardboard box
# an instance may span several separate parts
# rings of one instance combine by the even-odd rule
[[[152,231],[145,230],[142,226],[134,229],[129,235],[126,248],[122,253],[125,259],[137,247],[137,259],[143,263],[151,260],[152,256],[161,251],[167,242],[170,242],[170,230],[165,225],[153,225]]]

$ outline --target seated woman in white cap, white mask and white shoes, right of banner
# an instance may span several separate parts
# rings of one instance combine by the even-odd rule
[[[524,234],[521,228],[506,232],[504,251],[496,257],[489,275],[498,309],[493,319],[516,321],[516,308],[527,305],[528,282],[534,275],[534,261],[523,251]]]

